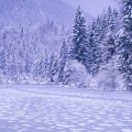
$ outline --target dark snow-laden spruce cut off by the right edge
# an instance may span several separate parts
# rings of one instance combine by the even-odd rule
[[[122,0],[122,25],[118,33],[120,72],[128,90],[132,90],[132,0]]]

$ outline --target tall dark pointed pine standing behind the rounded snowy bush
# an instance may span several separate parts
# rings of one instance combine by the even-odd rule
[[[77,9],[74,21],[70,56],[82,64],[85,64],[87,58],[87,30],[80,6]]]

